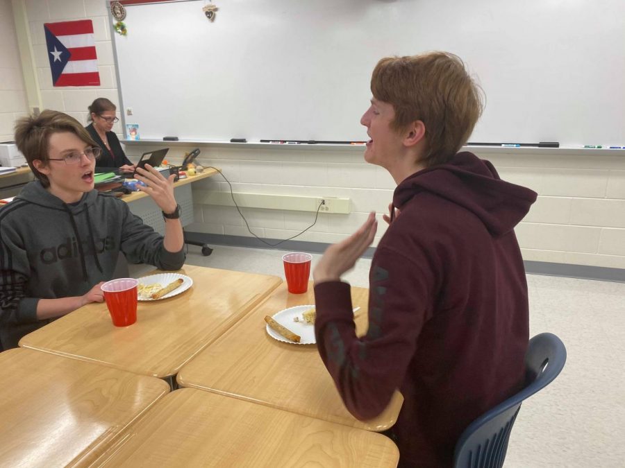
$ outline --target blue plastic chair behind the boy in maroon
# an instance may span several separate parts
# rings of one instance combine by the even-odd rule
[[[541,333],[532,338],[525,354],[526,387],[469,424],[456,443],[453,466],[500,468],[523,400],[556,379],[566,361],[567,349],[556,335]]]

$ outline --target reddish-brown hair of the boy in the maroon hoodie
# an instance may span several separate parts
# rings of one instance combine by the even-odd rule
[[[374,98],[392,104],[394,130],[420,120],[426,128],[426,166],[442,164],[464,145],[483,110],[483,92],[457,55],[430,52],[387,57],[371,78]]]

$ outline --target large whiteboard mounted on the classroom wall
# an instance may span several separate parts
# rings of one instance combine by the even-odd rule
[[[115,35],[142,139],[367,139],[387,55],[460,55],[487,96],[469,141],[625,145],[625,0],[215,0],[127,6]]]

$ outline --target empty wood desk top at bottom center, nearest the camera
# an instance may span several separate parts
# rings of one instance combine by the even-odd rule
[[[158,401],[103,467],[396,467],[381,434],[185,388]]]

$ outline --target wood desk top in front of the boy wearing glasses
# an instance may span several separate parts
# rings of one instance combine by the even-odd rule
[[[185,266],[193,286],[169,299],[139,302],[137,322],[115,327],[104,303],[88,304],[30,333],[19,345],[165,378],[232,327],[282,279]]]

